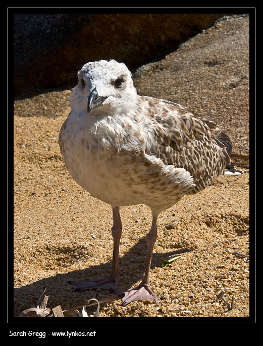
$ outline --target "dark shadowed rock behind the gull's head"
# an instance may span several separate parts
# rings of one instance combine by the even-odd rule
[[[75,83],[88,61],[134,69],[174,51],[222,14],[14,14],[14,94]]]

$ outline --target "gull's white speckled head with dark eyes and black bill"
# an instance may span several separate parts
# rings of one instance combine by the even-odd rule
[[[137,92],[131,72],[124,63],[100,60],[83,65],[78,71],[78,99],[86,101],[87,113],[128,112],[136,103]],[[80,101],[80,100],[79,100]]]

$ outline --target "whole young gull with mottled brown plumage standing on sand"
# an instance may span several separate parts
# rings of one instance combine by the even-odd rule
[[[142,282],[125,291],[131,301],[157,301],[149,282],[156,221],[184,195],[195,194],[230,164],[231,142],[215,137],[213,121],[199,119],[179,104],[137,95],[131,72],[115,60],[89,62],[78,72],[70,95],[72,110],[61,127],[59,144],[73,179],[113,210],[113,263],[110,276],[77,281],[76,291],[117,286],[120,206],[146,204],[152,225],[146,235],[147,258]]]

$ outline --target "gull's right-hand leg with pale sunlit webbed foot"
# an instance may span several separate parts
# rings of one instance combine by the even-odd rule
[[[146,257],[146,269],[145,275],[142,282],[134,287],[130,288],[128,291],[125,291],[125,296],[122,298],[122,306],[128,305],[131,301],[141,300],[141,299],[151,299],[153,302],[157,301],[156,295],[153,293],[150,287],[149,273],[150,273],[150,264],[151,264],[151,255],[154,243],[157,238],[157,217],[158,215],[153,213],[152,225],[150,232],[146,235],[146,244],[147,244],[147,257]]]

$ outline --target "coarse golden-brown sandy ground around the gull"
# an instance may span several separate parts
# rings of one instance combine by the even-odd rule
[[[189,39],[163,60],[136,72],[140,95],[181,103],[222,125],[233,151],[249,153],[249,18],[228,18]],[[77,70],[81,66],[76,66]],[[77,80],[77,78],[76,78]],[[107,290],[72,292],[71,279],[105,277],[112,262],[111,207],[79,187],[62,161],[60,127],[71,90],[42,92],[14,102],[14,316],[35,307],[47,284],[48,307],[69,309]],[[99,317],[249,316],[249,172],[221,176],[201,193],[163,212],[151,264],[158,302],[117,300]],[[122,208],[119,286],[144,274],[151,213]],[[183,255],[166,268],[161,259]],[[218,297],[225,298],[234,308]],[[94,315],[95,307],[88,309]]]

